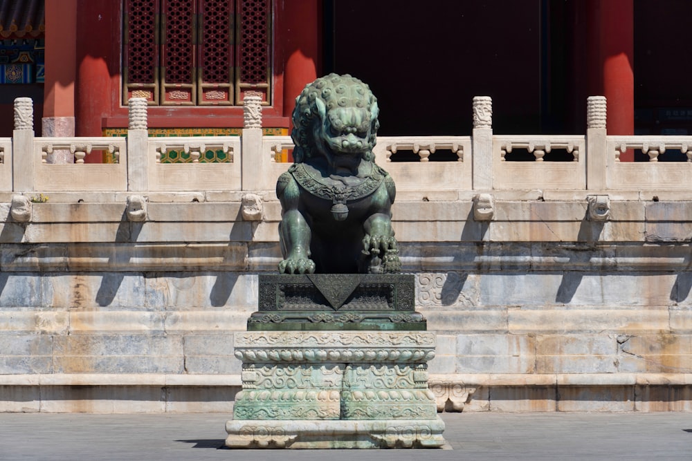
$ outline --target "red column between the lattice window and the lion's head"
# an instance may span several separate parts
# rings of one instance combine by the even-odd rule
[[[318,0],[281,3],[284,9],[277,43],[284,50],[284,116],[291,117],[295,97],[317,78],[320,70],[322,21]]]

